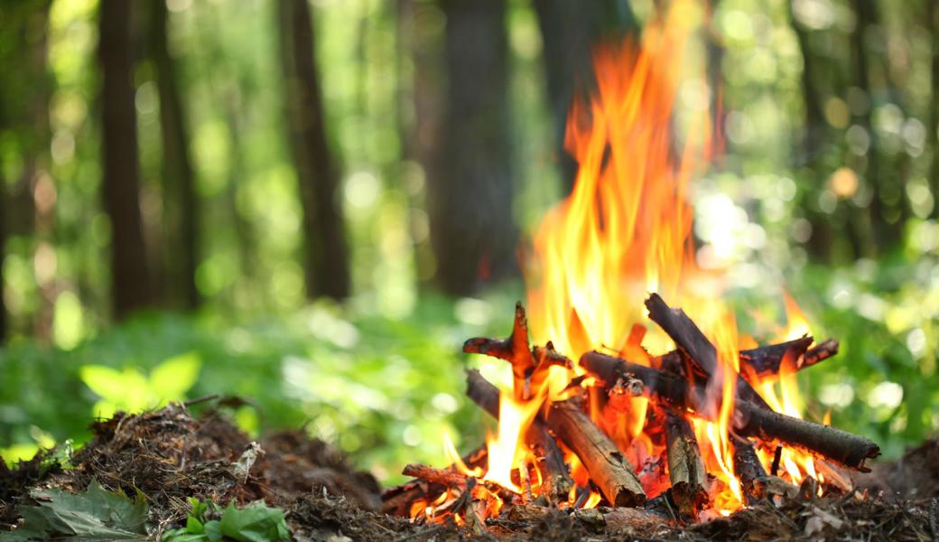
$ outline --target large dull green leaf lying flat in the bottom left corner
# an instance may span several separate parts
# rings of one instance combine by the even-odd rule
[[[92,480],[85,493],[35,490],[38,506],[19,506],[23,527],[11,540],[146,540],[146,500],[107,491]]]

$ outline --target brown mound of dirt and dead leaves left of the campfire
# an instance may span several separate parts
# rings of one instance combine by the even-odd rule
[[[287,508],[301,495],[325,491],[363,509],[377,507],[374,477],[356,472],[331,446],[299,432],[255,443],[218,412],[195,418],[179,404],[139,415],[117,413],[91,427],[95,437],[71,457],[70,469],[59,468],[48,454],[18,469],[0,467],[0,522],[15,524],[16,504],[30,503],[32,488],[77,493],[92,480],[128,495],[142,492],[150,522],[160,529],[185,520],[188,497],[239,504],[264,500]]]

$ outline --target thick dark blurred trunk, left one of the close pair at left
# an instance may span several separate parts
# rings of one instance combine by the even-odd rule
[[[101,0],[98,45],[104,209],[111,219],[111,288],[116,318],[152,302],[140,211],[137,117],[134,109],[131,7]]]

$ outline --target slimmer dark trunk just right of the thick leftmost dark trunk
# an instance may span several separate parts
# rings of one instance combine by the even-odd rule
[[[177,68],[167,43],[169,23],[166,3],[150,3],[150,51],[157,69],[162,135],[163,217],[167,284],[170,296],[184,306],[199,306],[195,270],[199,264],[199,217],[202,215],[195,190],[189,154],[185,108],[177,86]]]

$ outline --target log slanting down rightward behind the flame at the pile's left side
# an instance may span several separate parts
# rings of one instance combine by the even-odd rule
[[[484,379],[475,369],[467,370],[467,395],[481,409],[499,419],[499,388]],[[548,500],[554,503],[566,500],[574,487],[574,480],[567,473],[558,443],[547,432],[547,427],[541,420],[535,419],[531,422],[525,432],[525,441],[534,448],[535,455],[542,458]]]

